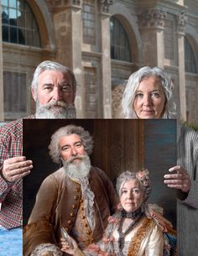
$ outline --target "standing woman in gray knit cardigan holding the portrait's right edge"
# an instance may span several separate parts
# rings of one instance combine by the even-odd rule
[[[159,67],[145,66],[129,79],[122,97],[126,118],[176,118],[170,76]],[[198,133],[178,122],[177,165],[164,175],[164,184],[180,190],[178,254],[195,256],[198,250]]]

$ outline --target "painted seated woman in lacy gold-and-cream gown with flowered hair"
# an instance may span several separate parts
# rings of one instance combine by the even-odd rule
[[[150,191],[148,170],[122,173],[117,179],[120,206],[117,212],[109,217],[102,240],[81,251],[74,239],[70,238],[74,246],[71,249],[69,243],[61,238],[61,250],[76,256],[164,255],[162,226],[159,225],[156,218],[154,219],[148,214],[145,204]],[[155,214],[154,217],[156,217]]]

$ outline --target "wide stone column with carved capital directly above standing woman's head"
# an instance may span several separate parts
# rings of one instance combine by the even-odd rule
[[[144,9],[138,15],[138,26],[143,42],[143,65],[164,68],[164,18],[166,13],[157,8]]]

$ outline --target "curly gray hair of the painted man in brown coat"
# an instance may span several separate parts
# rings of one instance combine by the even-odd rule
[[[93,139],[88,131],[85,131],[81,126],[76,126],[73,124],[67,125],[65,127],[59,128],[52,136],[49,145],[50,157],[57,164],[60,164],[60,149],[59,140],[62,137],[68,136],[70,134],[77,134],[81,138],[81,143],[83,144],[86,154],[90,155],[93,150]]]

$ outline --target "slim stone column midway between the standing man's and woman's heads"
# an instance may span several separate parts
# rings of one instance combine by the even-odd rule
[[[102,102],[103,118],[112,118],[112,73],[110,51],[110,15],[112,0],[101,0],[101,36],[102,36]]]

